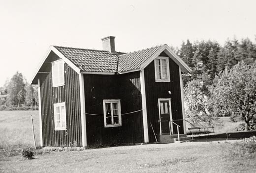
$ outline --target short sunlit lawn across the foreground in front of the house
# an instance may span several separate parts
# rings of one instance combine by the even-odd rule
[[[0,162],[6,173],[255,173],[255,157],[230,154],[225,142],[122,146],[51,152],[24,160]]]

